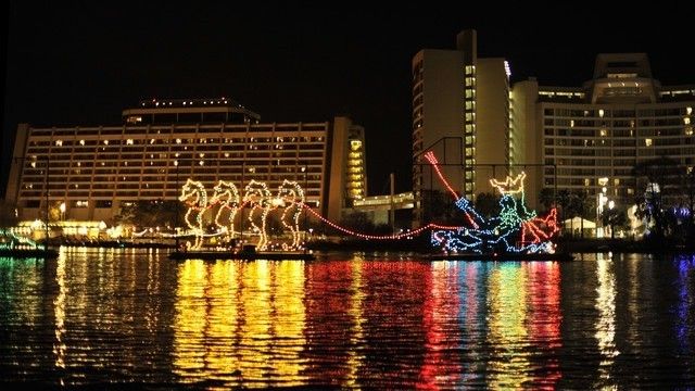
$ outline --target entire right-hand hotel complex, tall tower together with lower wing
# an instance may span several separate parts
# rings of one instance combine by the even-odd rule
[[[492,177],[526,172],[534,209],[543,188],[581,190],[606,205],[659,190],[668,197],[674,184],[649,182],[633,168],[666,156],[682,180],[695,166],[695,85],[662,86],[645,53],[598,54],[593,78],[578,87],[535,77],[510,86],[509,64],[479,59],[476,31],[464,30],[456,50],[421,50],[412,65],[416,225],[427,223],[430,190],[446,192],[422,156],[428,150],[469,199],[492,191]]]

